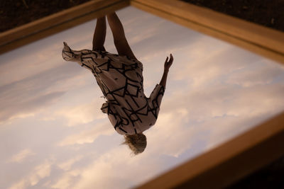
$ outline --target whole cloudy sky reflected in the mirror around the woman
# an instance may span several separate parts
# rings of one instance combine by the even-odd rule
[[[131,156],[99,110],[94,76],[61,57],[92,47],[89,21],[0,56],[4,188],[130,188],[284,110],[284,67],[133,7],[117,12],[146,96],[173,67],[148,147]],[[116,53],[109,27],[105,44]]]

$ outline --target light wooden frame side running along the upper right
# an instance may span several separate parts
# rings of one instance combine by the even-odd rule
[[[284,64],[284,33],[183,1],[132,0],[131,6]]]

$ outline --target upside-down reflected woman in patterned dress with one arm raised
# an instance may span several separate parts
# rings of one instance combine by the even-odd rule
[[[62,57],[92,71],[107,99],[102,105],[102,112],[107,113],[116,132],[124,135],[124,144],[128,144],[134,154],[139,154],[147,144],[143,131],[153,126],[158,118],[173,56],[170,54],[170,59],[167,57],[165,60],[160,84],[146,98],[143,93],[143,64],[136,59],[129,47],[116,13],[107,15],[107,19],[118,55],[111,54],[104,48],[107,25],[106,16],[103,16],[97,18],[92,50],[71,50],[64,42]]]

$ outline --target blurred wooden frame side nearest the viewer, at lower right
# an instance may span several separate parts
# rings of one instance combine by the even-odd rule
[[[284,155],[284,112],[137,189],[225,188]]]

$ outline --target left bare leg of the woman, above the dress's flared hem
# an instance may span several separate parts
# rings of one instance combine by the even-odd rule
[[[106,16],[97,18],[96,29],[93,37],[93,50],[105,50],[104,41],[106,40],[107,24]]]

